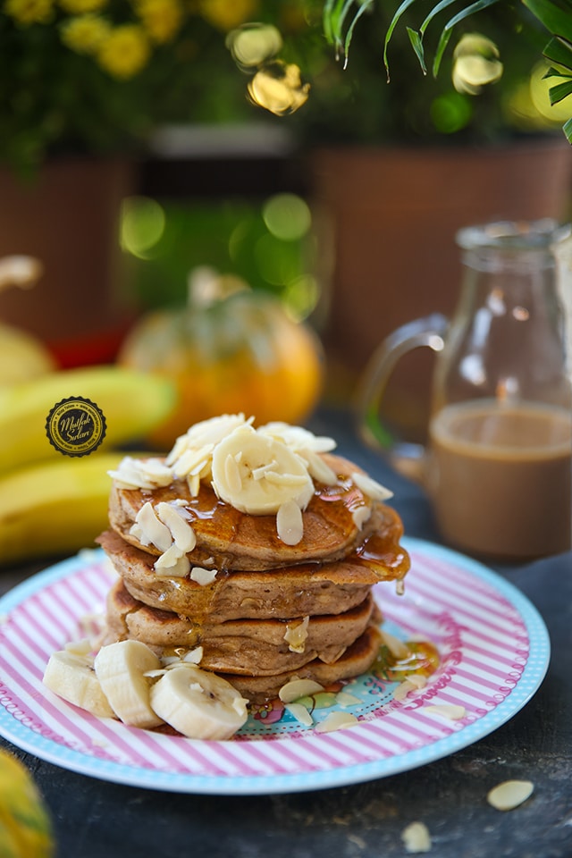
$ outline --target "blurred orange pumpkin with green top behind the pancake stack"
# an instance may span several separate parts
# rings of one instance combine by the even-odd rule
[[[322,390],[315,333],[290,319],[278,299],[254,290],[144,315],[117,359],[176,384],[178,406],[146,439],[163,449],[190,425],[225,413],[243,412],[257,424],[301,423]]]

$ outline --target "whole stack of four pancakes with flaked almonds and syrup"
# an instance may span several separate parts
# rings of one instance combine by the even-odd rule
[[[276,696],[293,677],[322,685],[356,677],[380,645],[372,587],[400,582],[408,571],[400,517],[383,502],[382,486],[322,451],[333,442],[284,425],[263,427],[255,438],[243,416],[227,425],[229,419],[191,427],[166,458],[127,457],[114,472],[110,529],[98,542],[119,576],[108,594],[102,644],[136,639],[163,657],[197,660],[253,702]],[[266,431],[307,467],[311,496],[299,509],[298,535],[281,532],[281,513],[251,514],[223,500],[214,449],[221,425],[232,432],[235,424],[250,447]],[[209,436],[214,442],[203,444]],[[241,451],[234,458],[244,462]],[[271,467],[274,459],[251,473],[260,480]],[[235,489],[240,493],[240,484]],[[157,522],[159,530],[171,527],[171,546]],[[166,559],[169,548],[175,560]]]

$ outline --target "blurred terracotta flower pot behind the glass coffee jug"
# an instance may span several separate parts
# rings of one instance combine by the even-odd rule
[[[417,316],[452,311],[459,227],[568,216],[572,147],[550,138],[487,149],[322,149],[310,170],[328,391],[347,400],[387,334]],[[390,421],[409,427],[412,440],[425,425],[426,351],[403,362],[385,398]]]

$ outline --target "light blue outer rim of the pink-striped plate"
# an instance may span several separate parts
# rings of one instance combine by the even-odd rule
[[[374,759],[352,765],[341,764],[337,768],[302,772],[287,772],[271,775],[205,776],[194,773],[173,773],[160,770],[147,770],[136,765],[123,765],[115,761],[101,760],[86,753],[65,747],[54,740],[39,735],[15,719],[0,706],[0,735],[21,750],[50,762],[60,768],[78,772],[88,777],[99,778],[133,787],[164,790],[174,793],[195,793],[202,795],[268,795],[279,793],[305,792],[331,787],[343,787],[364,783],[377,778],[386,778],[404,771],[425,766],[428,763],[456,753],[470,744],[488,736],[500,728],[518,711],[523,709],[541,686],[550,662],[551,644],[543,618],[524,593],[506,579],[481,562],[466,557],[449,548],[415,537],[405,537],[403,546],[411,554],[420,554],[433,561],[450,564],[483,582],[495,593],[500,594],[517,611],[530,642],[530,650],[522,675],[510,694],[492,711],[467,724],[458,732],[438,738],[432,744],[418,749],[397,753],[383,759]],[[89,551],[94,557],[103,556],[103,551]],[[43,590],[47,585],[72,576],[86,559],[83,552],[65,559],[30,577],[0,599],[0,615],[9,615],[12,610],[27,601],[31,596]],[[0,655],[0,667],[2,658]],[[1,701],[0,701],[1,702]],[[352,728],[353,729],[353,728]],[[342,732],[351,732],[352,729]],[[295,736],[286,736],[287,741],[295,741]],[[283,741],[282,738],[281,741]],[[184,740],[198,742],[199,740]],[[208,754],[208,742],[200,742]]]

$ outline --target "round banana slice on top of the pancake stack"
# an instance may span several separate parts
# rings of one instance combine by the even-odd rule
[[[305,509],[314,494],[306,463],[282,441],[241,425],[213,451],[214,491],[251,516],[272,515],[286,501]]]

